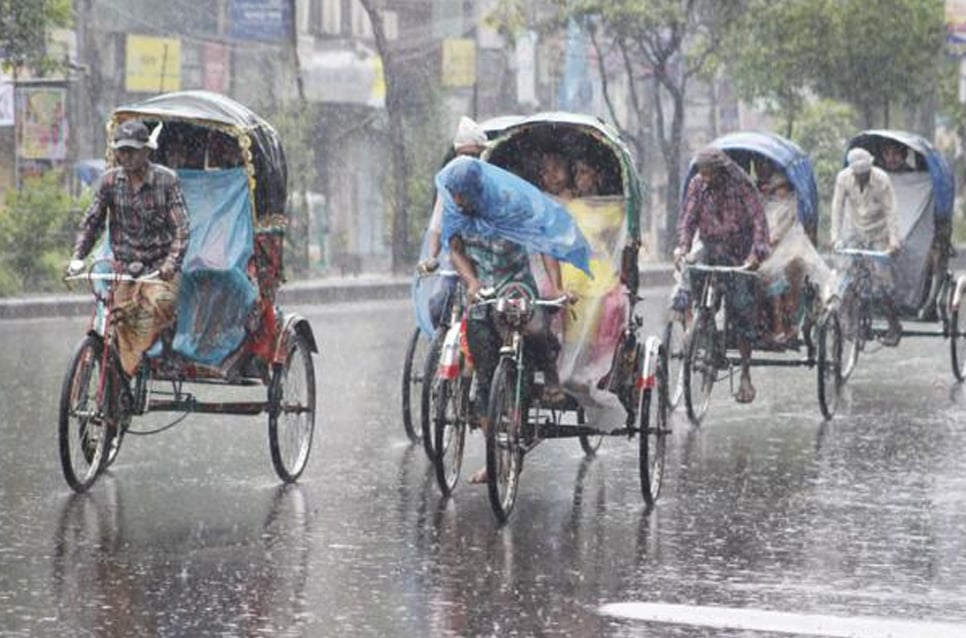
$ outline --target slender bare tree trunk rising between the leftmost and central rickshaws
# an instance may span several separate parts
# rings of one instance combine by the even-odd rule
[[[406,137],[403,127],[403,92],[398,82],[396,58],[389,48],[382,13],[374,0],[359,0],[372,23],[376,50],[382,58],[382,73],[386,83],[386,113],[389,118],[389,146],[392,158],[392,269],[400,272],[409,252],[409,195],[406,188]]]

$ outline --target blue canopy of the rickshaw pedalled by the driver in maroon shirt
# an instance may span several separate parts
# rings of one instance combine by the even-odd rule
[[[798,220],[811,237],[818,228],[818,187],[808,155],[789,139],[770,131],[737,131],[713,140],[709,146],[719,148],[742,168],[747,167],[751,153],[757,153],[777,164],[795,189],[798,200]],[[684,180],[682,194],[696,172],[692,159]]]

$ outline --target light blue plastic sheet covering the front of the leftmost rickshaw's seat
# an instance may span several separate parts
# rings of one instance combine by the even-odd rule
[[[191,220],[172,346],[218,366],[238,349],[258,297],[248,277],[254,229],[244,169],[179,170]]]

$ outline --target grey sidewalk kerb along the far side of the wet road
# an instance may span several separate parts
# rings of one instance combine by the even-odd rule
[[[671,284],[668,263],[641,264],[641,287]],[[358,277],[320,277],[283,284],[278,301],[286,305],[312,305],[370,299],[409,297],[412,277],[389,273],[364,273]],[[78,317],[91,311],[89,294],[33,295],[0,299],[0,320],[39,317]]]

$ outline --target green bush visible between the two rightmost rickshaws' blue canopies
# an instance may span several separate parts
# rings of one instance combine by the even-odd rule
[[[820,242],[828,238],[827,211],[835,188],[835,176],[842,169],[845,145],[856,133],[856,119],[851,106],[819,100],[804,107],[792,132],[792,139],[808,154],[815,169]]]

